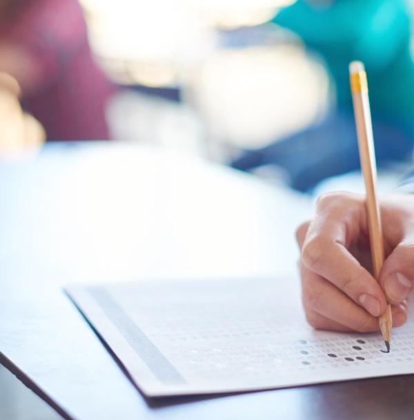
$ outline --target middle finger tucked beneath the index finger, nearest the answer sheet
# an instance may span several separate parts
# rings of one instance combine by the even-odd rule
[[[379,329],[378,320],[357,305],[331,282],[312,272],[302,263],[302,300],[306,313],[317,312],[323,317],[340,323],[357,332],[373,332]]]

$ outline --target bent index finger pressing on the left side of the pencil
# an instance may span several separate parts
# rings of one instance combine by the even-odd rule
[[[341,208],[323,203],[322,210],[311,222],[302,247],[302,261],[313,272],[342,290],[358,305],[362,305],[373,317],[386,308],[382,288],[373,276],[346,249],[351,236],[360,234],[359,210],[364,210],[351,201],[349,206],[341,201]],[[354,206],[354,208],[352,208]],[[329,212],[326,213],[326,207]],[[355,208],[357,210],[355,210]]]

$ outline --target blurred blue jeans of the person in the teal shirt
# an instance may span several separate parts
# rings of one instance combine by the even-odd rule
[[[378,166],[411,158],[413,139],[388,123],[373,121]],[[353,114],[332,114],[317,126],[275,141],[258,150],[246,150],[230,163],[248,171],[275,165],[290,175],[292,188],[308,191],[327,177],[359,168]]]

